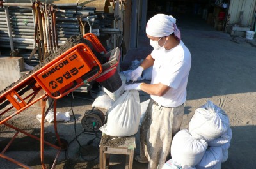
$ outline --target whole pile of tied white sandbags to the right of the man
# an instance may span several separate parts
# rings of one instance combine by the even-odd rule
[[[220,107],[207,101],[195,110],[189,129],[179,131],[171,145],[172,161],[164,164],[164,169],[180,166],[179,169],[220,169],[228,159],[228,148],[232,139],[232,129],[227,114]],[[206,145],[206,146],[205,146]],[[175,165],[174,165],[175,164]]]

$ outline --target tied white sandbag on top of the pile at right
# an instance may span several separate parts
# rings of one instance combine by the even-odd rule
[[[206,142],[223,135],[228,128],[230,128],[230,123],[227,114],[211,101],[197,108],[189,122],[191,135],[196,139],[204,139]]]

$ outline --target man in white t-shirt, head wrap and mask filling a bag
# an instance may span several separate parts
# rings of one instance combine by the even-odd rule
[[[129,84],[124,89],[150,94],[140,128],[140,156],[135,160],[155,169],[162,168],[170,158],[172,138],[180,130],[191,54],[180,40],[180,31],[172,16],[157,14],[150,18],[146,33],[154,50],[129,76],[136,81],[143,70],[153,66],[151,83]]]

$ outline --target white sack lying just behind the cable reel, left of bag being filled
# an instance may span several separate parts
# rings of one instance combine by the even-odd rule
[[[92,107],[104,108],[108,110],[114,103],[113,99],[111,99],[108,94],[104,91],[99,91],[96,99],[92,103]]]

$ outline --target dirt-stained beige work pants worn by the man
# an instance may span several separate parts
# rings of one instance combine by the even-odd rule
[[[173,136],[180,130],[184,105],[169,108],[148,104],[140,128],[140,158],[148,160],[148,169],[161,169],[170,158]]]

